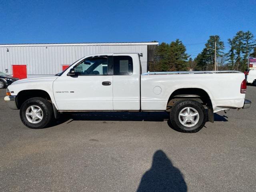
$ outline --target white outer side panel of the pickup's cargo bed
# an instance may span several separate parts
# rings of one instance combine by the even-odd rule
[[[141,76],[142,110],[165,110],[171,94],[179,89],[204,90],[214,112],[242,108],[245,94],[240,86],[245,75],[239,71],[148,72]]]

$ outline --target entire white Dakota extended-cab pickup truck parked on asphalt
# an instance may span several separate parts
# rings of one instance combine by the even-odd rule
[[[60,113],[167,111],[172,127],[197,132],[214,112],[249,108],[242,72],[149,72],[138,53],[86,56],[55,76],[22,79],[4,98],[29,128],[44,128]]]

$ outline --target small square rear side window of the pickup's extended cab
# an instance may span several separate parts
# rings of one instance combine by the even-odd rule
[[[114,56],[114,75],[131,75],[133,72],[130,56]]]

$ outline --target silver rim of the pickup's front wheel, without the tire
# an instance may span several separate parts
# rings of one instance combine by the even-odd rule
[[[39,106],[32,105],[26,109],[26,119],[33,124],[40,123],[43,119],[43,111]]]

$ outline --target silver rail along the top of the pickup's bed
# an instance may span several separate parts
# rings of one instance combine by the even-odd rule
[[[142,75],[172,75],[172,74],[213,74],[213,73],[242,73],[240,71],[167,71],[167,72],[148,72]]]

